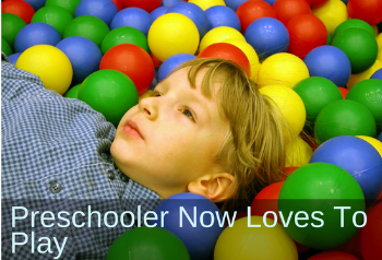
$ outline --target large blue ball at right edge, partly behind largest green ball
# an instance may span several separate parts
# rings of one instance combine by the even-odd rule
[[[361,187],[367,204],[372,203],[382,191],[382,157],[367,141],[342,135],[322,143],[309,163],[334,164],[347,170]]]

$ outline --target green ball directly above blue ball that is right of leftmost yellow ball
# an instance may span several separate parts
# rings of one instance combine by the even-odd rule
[[[110,32],[107,24],[96,16],[82,15],[73,19],[63,32],[63,38],[82,36],[92,39],[99,48],[105,36]]]

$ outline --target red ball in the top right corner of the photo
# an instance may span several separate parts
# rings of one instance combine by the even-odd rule
[[[381,0],[349,0],[347,12],[351,19],[363,20],[370,25],[382,22]]]

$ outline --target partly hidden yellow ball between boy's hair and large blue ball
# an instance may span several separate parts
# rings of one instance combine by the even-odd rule
[[[313,154],[311,146],[300,137],[286,145],[285,167],[302,167]]]

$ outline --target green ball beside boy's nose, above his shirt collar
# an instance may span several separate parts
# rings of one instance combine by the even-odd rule
[[[77,98],[117,127],[123,115],[138,104],[139,97],[129,76],[117,70],[99,70],[84,80]]]

